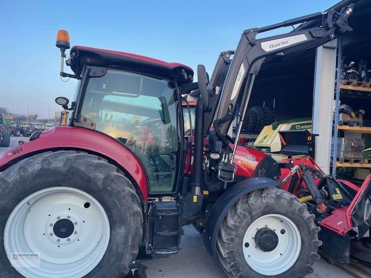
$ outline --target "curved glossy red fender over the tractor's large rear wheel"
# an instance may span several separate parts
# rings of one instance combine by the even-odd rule
[[[36,140],[17,146],[1,155],[0,168],[31,153],[59,148],[83,149],[114,160],[132,176],[147,201],[147,179],[138,158],[115,139],[90,129],[56,126],[42,132]]]

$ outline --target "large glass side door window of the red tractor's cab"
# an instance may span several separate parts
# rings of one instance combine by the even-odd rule
[[[81,114],[135,153],[150,192],[173,192],[180,155],[177,105],[173,81],[109,69],[89,78]]]

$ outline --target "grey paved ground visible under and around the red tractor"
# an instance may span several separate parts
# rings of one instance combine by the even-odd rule
[[[10,147],[0,147],[0,154],[18,145],[19,140],[28,142],[27,137],[10,138]],[[193,226],[184,227],[185,235],[182,236],[181,250],[167,258],[138,260],[133,268],[139,272],[127,277],[136,278],[227,278],[221,269],[219,262],[210,259],[202,248],[201,235]],[[139,255],[140,257],[140,255]],[[355,278],[336,265],[329,264],[324,259],[314,265],[314,273],[306,278]]]

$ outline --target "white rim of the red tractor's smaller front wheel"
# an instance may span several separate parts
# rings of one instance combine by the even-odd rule
[[[273,250],[270,248],[269,251],[263,251],[263,247],[266,248],[266,246],[259,248],[260,241],[256,240],[256,236],[261,236],[261,233],[258,233],[261,229],[267,231],[275,239],[272,244]],[[299,257],[300,232],[295,223],[286,216],[263,215],[247,228],[242,249],[247,264],[254,271],[267,276],[282,274],[290,269]]]

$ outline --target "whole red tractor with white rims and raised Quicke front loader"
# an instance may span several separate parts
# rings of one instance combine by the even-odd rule
[[[321,245],[314,215],[281,188],[285,165],[238,138],[261,64],[350,31],[352,9],[247,29],[235,52],[221,53],[210,80],[198,66],[197,83],[183,64],[82,46],[66,61],[73,74],[64,73],[69,36],[58,32],[60,75],[78,79],[78,93],[70,106],[56,99],[71,111],[68,126],[35,131],[0,157],[1,274],[122,277],[139,244],[150,255],[177,253],[190,224],[231,278],[311,273]],[[309,29],[256,39],[315,19]],[[185,134],[188,94],[198,97]],[[235,115],[233,140],[227,130]]]

